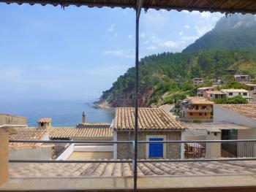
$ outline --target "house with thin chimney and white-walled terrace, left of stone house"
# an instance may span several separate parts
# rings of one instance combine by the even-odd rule
[[[76,127],[50,128],[49,137],[52,140],[113,141],[113,128],[110,123],[86,123],[83,112],[82,123]],[[112,159],[113,144],[62,144],[56,146],[56,154],[57,160]]]

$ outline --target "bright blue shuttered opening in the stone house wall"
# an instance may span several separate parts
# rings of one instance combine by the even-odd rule
[[[149,138],[149,141],[163,141],[163,138]],[[149,143],[149,158],[163,158],[164,145],[162,143]]]

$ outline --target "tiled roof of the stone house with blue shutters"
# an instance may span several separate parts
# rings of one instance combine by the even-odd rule
[[[115,130],[134,130],[135,108],[116,108]],[[139,108],[138,129],[140,130],[183,130],[184,127],[159,108]]]

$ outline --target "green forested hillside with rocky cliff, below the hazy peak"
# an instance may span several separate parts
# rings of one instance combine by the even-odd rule
[[[194,95],[192,85],[195,77],[232,80],[236,72],[256,76],[256,71],[243,69],[246,64],[256,69],[256,55],[243,50],[209,50],[193,53],[162,53],[140,61],[140,106],[178,99],[184,94]],[[206,82],[207,84],[207,82]],[[118,77],[112,88],[103,92],[101,101],[111,107],[133,106],[135,68]],[[211,82],[208,82],[211,85]],[[177,98],[178,97],[178,98]]]

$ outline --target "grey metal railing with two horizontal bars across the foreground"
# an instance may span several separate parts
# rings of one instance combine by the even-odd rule
[[[76,143],[76,144],[132,144],[133,148],[135,148],[135,141],[74,141],[74,140],[10,140],[9,142],[15,143],[15,142],[23,142],[23,143]],[[255,142],[256,139],[240,139],[240,140],[187,140],[187,141],[181,141],[181,140],[168,140],[168,141],[138,141],[138,144],[152,144],[152,143],[173,143],[173,144],[206,144],[206,143],[252,143]],[[209,161],[256,161],[256,157],[245,157],[245,158],[177,158],[177,159],[146,159],[146,160],[137,160],[137,163],[157,163],[157,162],[165,162],[165,163],[176,163],[176,162],[209,162]],[[134,169],[135,167],[135,161],[133,160],[9,160],[10,163],[131,163],[133,164],[133,177],[136,180],[137,183],[137,177],[135,177],[136,173]],[[137,190],[134,188],[134,190]]]

